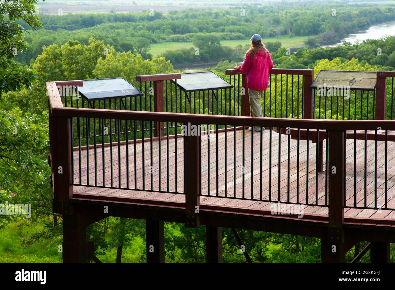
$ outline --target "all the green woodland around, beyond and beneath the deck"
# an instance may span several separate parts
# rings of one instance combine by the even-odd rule
[[[395,36],[319,47],[374,23],[395,20],[395,6],[324,2],[317,9],[314,2],[306,2],[305,7],[245,7],[244,16],[239,8],[230,8],[60,17],[36,15],[37,2],[24,1],[23,8],[9,2],[0,8],[4,29],[0,37],[0,204],[32,204],[33,210],[30,218],[0,215],[0,262],[62,262],[58,251],[62,219],[52,212],[47,161],[47,81],[124,77],[138,86],[136,75],[179,72],[174,65],[207,62],[217,64],[207,70],[225,78],[225,69],[243,61],[247,48],[226,47],[220,41],[249,39],[252,31],[273,38],[266,46],[275,68],[308,68],[315,73],[395,69]],[[289,54],[276,39],[280,35],[307,36],[309,41]],[[199,55],[194,47],[166,51],[159,57],[150,54],[151,44],[172,41],[192,42]],[[251,230],[239,234],[253,262],[320,262],[318,238]],[[95,242],[96,255],[103,262],[145,262],[143,220],[108,217],[89,226],[87,239]],[[205,261],[203,226],[165,223],[165,241],[166,262]],[[224,262],[245,262],[230,228],[223,229],[222,243]],[[359,242],[353,247],[347,261],[365,245]],[[395,262],[394,244],[391,249]]]

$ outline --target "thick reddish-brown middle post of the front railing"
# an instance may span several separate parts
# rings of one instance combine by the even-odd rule
[[[200,126],[190,124],[190,126]],[[200,136],[184,135],[184,194],[186,226],[199,226],[200,206]]]

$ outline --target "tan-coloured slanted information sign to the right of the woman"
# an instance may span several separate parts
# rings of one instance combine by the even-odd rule
[[[310,88],[349,88],[373,91],[376,88],[376,71],[326,71],[317,73]]]

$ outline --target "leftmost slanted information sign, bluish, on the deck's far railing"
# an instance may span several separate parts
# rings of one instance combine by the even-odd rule
[[[143,95],[124,78],[84,80],[78,91],[88,101]]]

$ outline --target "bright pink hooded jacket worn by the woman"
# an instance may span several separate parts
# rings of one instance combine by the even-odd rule
[[[243,64],[238,67],[241,73],[247,74],[247,88],[253,90],[266,90],[269,82],[269,70],[273,68],[273,61],[269,51],[258,51],[254,58],[247,54]]]

